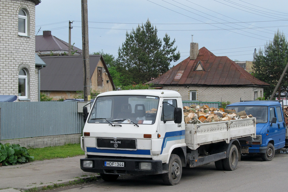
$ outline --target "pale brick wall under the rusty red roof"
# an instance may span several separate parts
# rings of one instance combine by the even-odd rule
[[[208,102],[239,102],[241,100],[254,100],[254,92],[263,97],[263,88],[258,87],[216,87],[216,86],[163,86],[162,89],[174,90],[181,94],[182,100],[190,100],[190,91],[196,91],[196,99]]]

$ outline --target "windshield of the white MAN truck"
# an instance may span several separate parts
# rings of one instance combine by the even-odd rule
[[[154,124],[159,97],[115,95],[98,97],[88,123]]]

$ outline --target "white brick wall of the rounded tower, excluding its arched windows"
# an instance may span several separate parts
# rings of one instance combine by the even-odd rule
[[[0,94],[18,96],[18,71],[26,67],[29,71],[28,99],[38,101],[35,3],[29,0],[0,0],[0,7]],[[22,8],[29,12],[29,37],[18,35],[18,13]]]

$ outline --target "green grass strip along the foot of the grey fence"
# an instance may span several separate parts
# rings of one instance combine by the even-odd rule
[[[66,157],[75,157],[84,155],[80,144],[66,144],[62,146],[31,148],[28,149],[30,156],[34,156],[34,160],[58,159]]]

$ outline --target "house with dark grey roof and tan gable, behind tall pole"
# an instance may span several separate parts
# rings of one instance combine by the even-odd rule
[[[52,97],[75,98],[77,91],[83,91],[82,55],[43,56],[47,67],[41,71],[41,93]],[[90,83],[92,90],[107,92],[115,90],[112,77],[102,55],[90,55]]]

